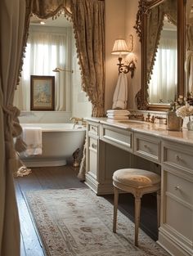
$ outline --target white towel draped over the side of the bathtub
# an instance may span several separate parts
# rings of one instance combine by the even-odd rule
[[[43,154],[42,128],[23,127],[22,138],[27,145],[26,156]]]

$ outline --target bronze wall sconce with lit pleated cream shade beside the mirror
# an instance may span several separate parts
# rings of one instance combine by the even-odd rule
[[[117,64],[119,66],[119,74],[122,72],[124,74],[131,72],[131,78],[133,78],[134,70],[136,69],[135,62],[130,61],[128,63],[128,65],[125,65],[122,63],[122,60],[123,60],[122,56],[127,55],[128,53],[132,52],[132,49],[133,49],[132,34],[129,35],[129,41],[130,41],[130,45],[128,48],[127,43],[125,42],[124,39],[122,39],[122,38],[116,39],[114,42],[114,47],[113,47],[111,54],[119,55],[119,58],[118,58],[119,63]]]

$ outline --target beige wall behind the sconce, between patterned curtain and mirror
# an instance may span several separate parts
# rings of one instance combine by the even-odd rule
[[[133,52],[137,57],[137,69],[133,79],[128,74],[128,108],[135,108],[135,95],[141,86],[141,45],[136,30],[133,29],[137,8],[137,0],[105,0],[105,110],[112,106],[118,79],[118,56],[111,55],[110,52],[116,38],[123,37],[127,41],[129,34],[134,38]]]

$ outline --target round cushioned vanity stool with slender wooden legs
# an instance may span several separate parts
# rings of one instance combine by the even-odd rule
[[[157,218],[159,227],[160,180],[161,177],[158,174],[138,168],[123,168],[114,172],[114,233],[116,232],[117,224],[117,207],[119,200],[119,191],[132,193],[132,195],[134,195],[135,197],[135,245],[138,245],[141,197],[144,194],[157,192]]]

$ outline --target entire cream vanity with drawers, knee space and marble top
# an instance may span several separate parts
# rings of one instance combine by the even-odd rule
[[[95,120],[95,119],[94,119]],[[173,256],[193,255],[193,134],[160,125],[110,124],[88,119],[86,183],[97,195],[113,193],[119,168],[161,171],[158,243]],[[157,169],[156,169],[157,168]]]

